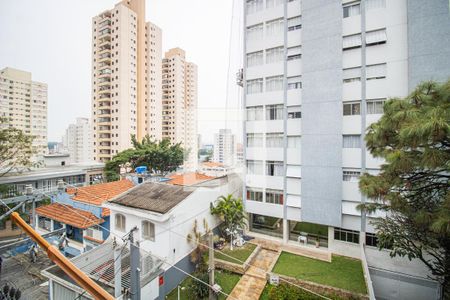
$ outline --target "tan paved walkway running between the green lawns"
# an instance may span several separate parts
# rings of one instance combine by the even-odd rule
[[[259,299],[259,296],[266,286],[266,272],[269,271],[278,259],[278,256],[279,252],[261,249],[258,255],[253,259],[252,265],[231,291],[228,299]]]

